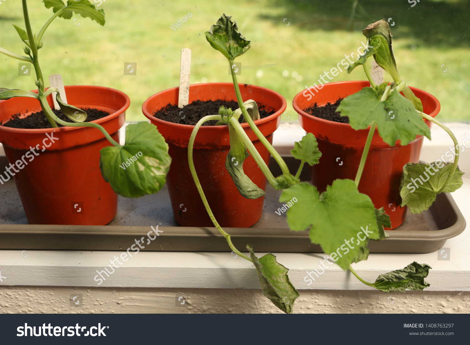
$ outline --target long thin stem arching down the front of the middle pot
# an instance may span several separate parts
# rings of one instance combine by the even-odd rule
[[[189,138],[189,144],[188,144],[188,163],[189,163],[189,170],[191,171],[191,175],[193,176],[194,183],[196,184],[197,191],[199,192],[199,195],[201,196],[201,199],[203,201],[204,207],[207,211],[207,214],[209,214],[209,217],[211,218],[212,223],[214,226],[219,230],[220,234],[222,234],[230,248],[238,254],[240,257],[243,259],[247,259],[250,262],[253,262],[249,257],[246,255],[242,254],[240,251],[238,251],[235,246],[232,243],[232,239],[230,238],[230,235],[227,234],[222,227],[220,227],[219,223],[214,217],[214,214],[212,213],[211,207],[209,206],[209,203],[207,202],[207,199],[204,195],[203,188],[201,186],[201,182],[199,182],[199,178],[197,177],[196,173],[196,168],[194,167],[194,161],[193,161],[193,147],[194,147],[194,141],[196,139],[196,134],[199,128],[203,125],[204,122],[210,121],[210,120],[221,120],[220,115],[209,115],[209,116],[204,116],[204,118],[201,118],[197,124],[194,126],[193,132],[191,133],[191,137]]]

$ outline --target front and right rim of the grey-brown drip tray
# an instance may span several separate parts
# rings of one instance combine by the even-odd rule
[[[0,157],[0,160],[6,157]],[[298,162],[297,160],[289,156],[284,156],[286,164],[290,169],[297,171]],[[270,170],[273,171],[279,169],[278,165],[275,163],[273,157],[270,159]],[[308,181],[310,179],[309,169],[304,169],[301,174],[301,180]],[[444,200],[444,198],[446,200]],[[423,230],[385,230],[388,238],[383,241],[374,241],[374,245],[383,246],[385,243],[444,243],[447,239],[453,238],[457,235],[460,235],[466,227],[466,221],[463,217],[461,210],[458,205],[455,203],[454,198],[450,193],[441,193],[433,205],[431,206],[429,212],[436,223],[435,215],[439,214],[436,212],[436,206],[439,209],[440,203],[449,203],[448,206],[452,209],[455,216],[455,222],[450,224],[446,228],[432,231],[423,231]],[[446,206],[446,207],[448,207]],[[441,215],[442,216],[442,215]],[[441,219],[442,217],[439,217]],[[441,219],[442,220],[442,219]],[[441,222],[442,224],[442,222]],[[157,226],[157,222],[155,224]],[[160,230],[163,230],[163,233],[159,235],[162,238],[223,238],[223,235],[215,227],[180,227],[180,226],[169,226],[169,227],[159,227]],[[240,228],[240,227],[227,227],[225,228],[227,232],[231,235],[233,239],[246,238],[246,239],[285,239],[285,240],[306,240],[309,245],[317,246],[316,244],[310,243],[308,230],[301,232],[291,231],[289,227],[284,228],[270,228],[270,227],[249,227],[249,228]],[[46,235],[46,236],[56,236],[56,235],[65,235],[65,236],[116,236],[116,237],[132,237],[132,236],[142,236],[147,235],[151,230],[150,226],[123,226],[123,225],[100,225],[100,226],[87,226],[87,225],[29,225],[29,224],[0,224],[0,239],[4,235],[18,235],[25,236],[28,234],[34,235]],[[423,237],[425,235],[425,237]],[[384,242],[385,241],[385,242]],[[2,241],[3,242],[3,241]],[[382,244],[380,244],[382,243]],[[386,244],[385,244],[386,245]],[[396,245],[396,244],[395,244]],[[440,245],[440,244],[439,244]],[[0,243],[0,250],[4,246]],[[8,246],[7,246],[8,247]],[[8,248],[8,250],[11,248]],[[60,248],[55,248],[60,250]],[[388,252],[388,251],[377,251],[377,252]],[[197,251],[197,250],[193,250]],[[287,251],[290,252],[290,251]],[[295,252],[295,251],[292,251]],[[376,252],[376,251],[374,251]]]

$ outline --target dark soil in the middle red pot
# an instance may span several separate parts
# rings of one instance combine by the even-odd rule
[[[258,104],[258,103],[257,103]],[[180,124],[180,125],[196,125],[197,121],[207,115],[219,114],[220,106],[237,110],[238,102],[236,101],[194,101],[191,104],[185,105],[183,108],[178,108],[177,105],[168,103],[164,108],[157,110],[153,115],[164,121]],[[180,112],[183,111],[183,113]],[[267,108],[264,104],[258,104],[258,111],[260,118],[266,118],[273,115],[276,111],[272,108]],[[181,118],[183,117],[183,118]],[[243,123],[243,115],[240,116],[239,122]],[[207,121],[204,126],[213,126],[217,121]]]

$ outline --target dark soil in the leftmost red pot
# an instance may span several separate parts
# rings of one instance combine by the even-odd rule
[[[100,118],[104,118],[105,116],[110,115],[110,113],[98,109],[91,109],[91,108],[80,108],[86,111],[87,117],[85,122],[91,122],[94,120],[98,120]],[[28,111],[28,110],[26,110]],[[63,121],[66,122],[73,122],[70,118],[66,117],[62,110],[52,110],[54,114]],[[21,114],[13,115],[8,122],[5,124],[1,124],[5,127],[11,128],[23,128],[23,129],[41,129],[41,128],[52,128],[49,121],[47,121],[44,112],[38,111],[36,113],[32,113],[30,116],[26,118],[20,118]],[[63,125],[57,124],[59,127],[63,127]]]

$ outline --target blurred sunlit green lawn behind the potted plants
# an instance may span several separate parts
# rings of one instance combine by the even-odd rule
[[[192,49],[191,84],[231,81],[227,61],[204,37],[211,24],[226,13],[251,40],[251,49],[236,60],[242,63],[239,82],[282,94],[288,103],[289,121],[296,121],[292,98],[305,85],[312,85],[324,70],[336,66],[345,53],[356,51],[365,39],[361,33],[365,25],[390,14],[403,19],[398,29],[393,29],[394,52],[403,80],[439,99],[441,120],[470,121],[468,1],[422,0],[414,8],[406,0],[400,1],[400,8],[392,2],[360,1],[366,13],[358,11],[354,31],[346,31],[352,5],[348,0],[334,1],[334,5],[327,1],[108,0],[99,7],[106,13],[104,27],[79,16],[75,23],[57,18],[44,36],[40,63],[46,79],[61,73],[66,85],[122,90],[131,98],[127,120],[145,120],[141,114],[145,99],[178,86],[182,48]],[[30,0],[29,9],[37,33],[52,10],[39,0]],[[192,18],[174,31],[173,23],[189,12]],[[467,20],[465,31],[456,33],[460,22],[447,19],[454,15],[459,15],[460,21]],[[428,25],[425,30],[419,21]],[[0,46],[23,54],[23,43],[11,24],[24,27],[19,0],[1,3]],[[123,75],[126,62],[137,63],[137,76]],[[340,73],[333,81],[357,79],[366,79],[360,69],[351,75]],[[33,76],[18,77],[18,61],[5,55],[0,55],[0,86],[36,88]]]

